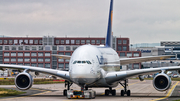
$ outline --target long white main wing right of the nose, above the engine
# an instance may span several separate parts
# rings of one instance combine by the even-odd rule
[[[161,72],[163,70],[165,70],[165,71],[179,70],[180,71],[180,66],[109,72],[109,73],[107,73],[105,79],[106,79],[107,83],[111,84],[111,83],[117,82],[119,80],[128,79],[128,78],[133,77],[133,76],[147,75],[147,74],[151,74],[151,73],[158,73],[158,72]]]

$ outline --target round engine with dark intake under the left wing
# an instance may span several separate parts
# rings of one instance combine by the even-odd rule
[[[29,73],[23,72],[16,76],[15,85],[20,90],[27,90],[31,88],[33,79]]]

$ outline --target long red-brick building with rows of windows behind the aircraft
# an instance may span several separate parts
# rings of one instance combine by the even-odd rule
[[[69,61],[51,54],[72,55],[80,45],[104,45],[103,37],[0,37],[0,63],[68,70]],[[141,57],[140,51],[129,51],[129,38],[113,37],[112,47],[120,57]],[[132,65],[140,68],[140,64]]]

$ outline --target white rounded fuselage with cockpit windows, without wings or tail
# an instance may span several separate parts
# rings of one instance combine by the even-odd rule
[[[118,54],[110,47],[83,45],[72,54],[69,62],[71,80],[79,86],[109,87],[104,80],[107,72],[119,71]]]

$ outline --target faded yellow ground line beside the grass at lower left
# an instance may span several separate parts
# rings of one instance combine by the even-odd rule
[[[31,88],[31,89],[38,90],[38,91],[46,91],[46,90],[39,90],[36,88]],[[37,94],[33,94],[33,95],[28,95],[28,96],[22,96],[22,97],[5,98],[5,99],[0,99],[0,100],[20,99],[20,98],[25,98],[25,97],[32,97],[32,96],[36,96],[36,95],[41,95],[41,94],[45,94],[45,93],[49,93],[49,92],[52,92],[52,91],[46,91],[46,92],[37,93]]]

